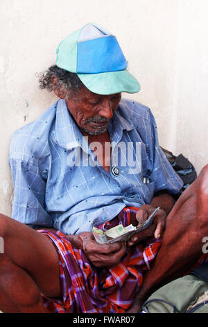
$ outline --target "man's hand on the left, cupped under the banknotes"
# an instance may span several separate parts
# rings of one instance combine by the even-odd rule
[[[83,250],[88,259],[96,267],[115,266],[121,262],[126,246],[121,242],[113,244],[98,244],[92,232],[78,235],[66,235],[73,246]]]

